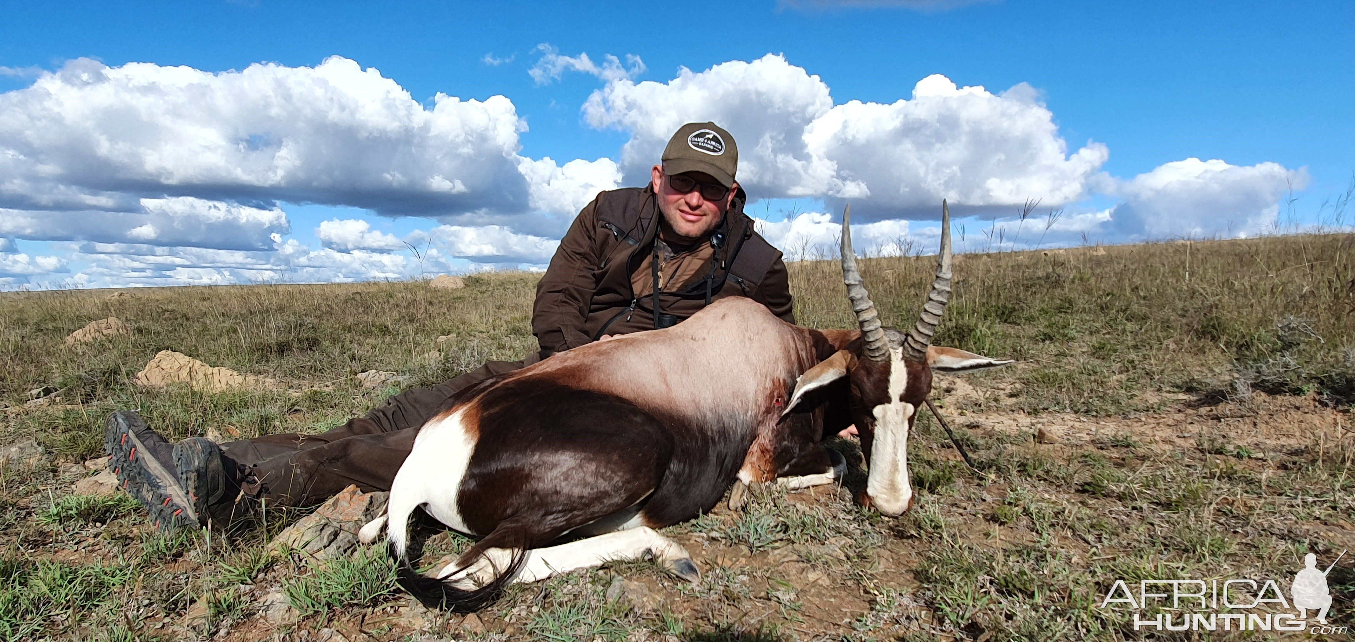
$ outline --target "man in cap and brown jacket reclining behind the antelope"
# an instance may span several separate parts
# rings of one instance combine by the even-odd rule
[[[493,377],[614,335],[671,326],[725,297],[749,297],[794,322],[786,265],[743,213],[737,167],[728,131],[688,123],[668,141],[648,187],[602,192],[584,207],[537,286],[541,352],[405,390],[321,435],[172,444],[136,412],[117,412],[104,448],[118,482],[161,530],[225,524],[259,500],[314,505],[350,484],[389,490],[424,421]]]

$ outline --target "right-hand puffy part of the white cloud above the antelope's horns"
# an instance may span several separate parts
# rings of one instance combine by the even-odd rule
[[[1069,154],[1053,112],[1026,84],[991,93],[940,74],[920,80],[911,100],[833,107],[805,138],[844,184],[863,187],[837,196],[875,215],[935,217],[942,199],[967,207],[1069,203],[1110,157],[1095,142]]]

